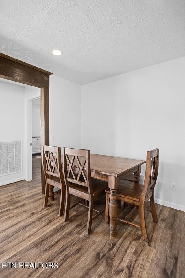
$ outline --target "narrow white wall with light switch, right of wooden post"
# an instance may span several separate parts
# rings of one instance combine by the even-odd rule
[[[81,86],[55,75],[50,75],[49,133],[52,146],[81,147]]]

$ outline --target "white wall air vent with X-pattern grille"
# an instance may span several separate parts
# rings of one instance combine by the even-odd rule
[[[22,141],[0,142],[0,176],[22,171]]]

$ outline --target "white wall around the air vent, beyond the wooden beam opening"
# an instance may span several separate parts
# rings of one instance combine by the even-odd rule
[[[22,172],[0,176],[0,185],[23,180],[24,167],[24,87],[0,81],[0,141],[22,140]]]

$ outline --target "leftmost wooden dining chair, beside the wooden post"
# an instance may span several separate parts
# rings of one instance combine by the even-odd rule
[[[45,175],[45,198],[44,207],[47,206],[48,198],[60,192],[60,206],[58,216],[63,214],[65,200],[65,183],[62,173],[60,147],[42,146],[42,167]],[[49,187],[57,187],[59,190],[49,195]]]

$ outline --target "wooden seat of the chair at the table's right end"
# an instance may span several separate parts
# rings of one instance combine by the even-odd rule
[[[123,198],[139,201],[142,189],[143,189],[143,184],[134,183],[128,180],[121,180],[117,191],[118,200],[120,196]],[[105,192],[110,193],[109,188],[106,188]]]

